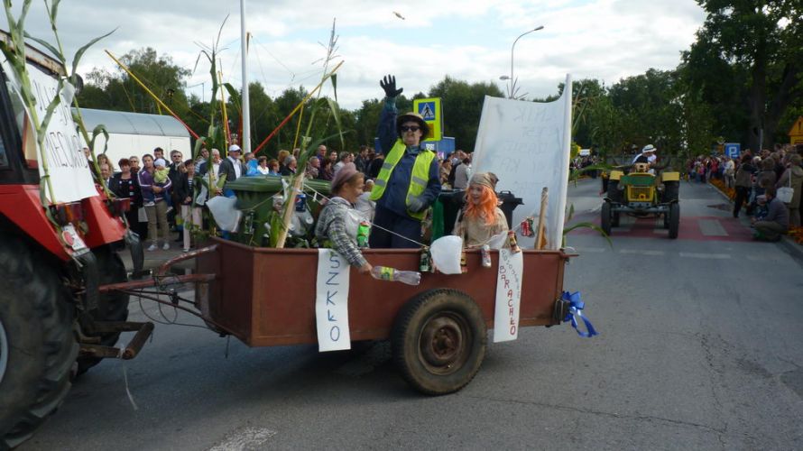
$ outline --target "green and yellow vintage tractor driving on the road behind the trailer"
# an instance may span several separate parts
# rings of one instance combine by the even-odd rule
[[[680,226],[679,188],[679,172],[663,171],[655,175],[645,163],[636,163],[627,174],[623,170],[612,170],[602,206],[603,231],[611,235],[611,228],[619,226],[619,217],[627,213],[663,217],[663,226],[669,229],[669,238],[677,238]]]

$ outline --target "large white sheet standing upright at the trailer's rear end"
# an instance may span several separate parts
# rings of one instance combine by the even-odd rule
[[[476,135],[475,172],[494,172],[497,191],[511,191],[524,205],[513,211],[512,226],[540,214],[541,189],[549,188],[547,249],[558,249],[563,238],[571,144],[571,77],[558,100],[522,102],[485,96]],[[536,225],[537,226],[537,225]],[[532,248],[534,238],[519,237]]]

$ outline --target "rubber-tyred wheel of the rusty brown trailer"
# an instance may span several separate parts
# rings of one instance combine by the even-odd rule
[[[466,293],[439,289],[420,293],[393,325],[393,359],[404,379],[429,395],[459,391],[485,359],[483,312]]]

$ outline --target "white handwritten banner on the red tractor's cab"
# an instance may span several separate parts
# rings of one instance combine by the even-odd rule
[[[31,80],[33,96],[36,97],[36,115],[39,121],[42,121],[47,106],[56,97],[58,82],[55,78],[44,73],[42,69],[38,69],[30,63],[26,65],[26,68],[28,69],[28,77]],[[12,97],[18,97],[19,94],[14,92],[14,89],[17,89],[19,82],[14,78],[13,72],[8,66],[8,61],[5,59],[3,60],[3,69],[9,80],[13,80],[7,85],[7,87],[11,87],[9,94]],[[14,100],[14,102],[16,101]],[[21,112],[16,111],[15,113],[17,114],[17,124],[23,124],[23,118],[19,116]],[[30,112],[28,117],[32,118]],[[91,130],[89,133],[91,133]],[[33,133],[28,137],[24,137],[24,139],[35,140]],[[82,198],[97,196],[95,182],[92,180],[91,172],[89,172],[89,165],[82,151],[81,141],[78,139],[76,125],[72,121],[72,112],[69,109],[69,104],[64,102],[63,97],[51,116],[51,122],[45,132],[44,147],[48,173],[50,174],[55,196],[55,198],[51,198],[51,202],[76,202]],[[17,150],[14,149],[14,152],[17,152]],[[42,164],[40,152],[36,152],[36,158],[39,161],[39,175],[42,177],[44,176],[44,165]],[[46,189],[45,192],[50,198],[50,190]]]

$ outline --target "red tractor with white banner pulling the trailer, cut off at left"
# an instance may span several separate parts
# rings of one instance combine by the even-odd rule
[[[10,38],[0,32],[0,40]],[[26,76],[43,113],[64,74],[28,47]],[[45,145],[23,102],[19,69],[0,56],[0,449],[30,437],[69,391],[71,380],[101,358],[120,355],[128,295],[98,287],[127,281],[116,251],[142,245],[122,218],[128,199],[110,198],[93,179],[69,100],[56,107]],[[62,96],[63,97],[63,96]],[[33,112],[36,113],[36,112]],[[44,147],[44,148],[42,148]],[[43,163],[42,159],[46,159]],[[152,327],[152,325],[151,325]],[[129,353],[130,354],[130,353]]]

